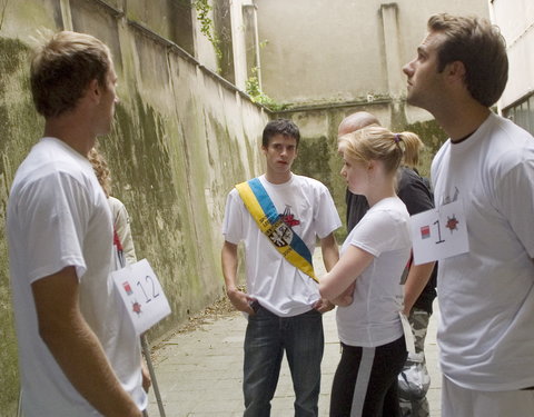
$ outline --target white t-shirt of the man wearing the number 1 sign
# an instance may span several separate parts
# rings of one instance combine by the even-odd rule
[[[436,207],[463,202],[469,252],[439,261],[444,375],[477,390],[534,386],[534,139],[495,115],[439,149]]]

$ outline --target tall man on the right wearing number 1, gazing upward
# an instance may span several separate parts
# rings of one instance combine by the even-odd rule
[[[404,67],[408,102],[451,137],[432,165],[436,207],[459,201],[468,235],[439,262],[444,417],[534,416],[534,139],[490,111],[507,70],[497,28],[449,14]]]

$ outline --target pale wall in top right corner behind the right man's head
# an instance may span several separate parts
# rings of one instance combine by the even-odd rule
[[[498,102],[502,109],[534,93],[534,2],[493,0],[491,9],[508,52],[508,83]]]

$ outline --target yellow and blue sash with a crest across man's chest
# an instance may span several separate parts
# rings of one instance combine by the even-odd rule
[[[267,236],[276,250],[294,267],[300,269],[315,281],[312,254],[306,244],[284,222],[273,200],[258,178],[236,186],[245,207],[253,216],[259,230]]]

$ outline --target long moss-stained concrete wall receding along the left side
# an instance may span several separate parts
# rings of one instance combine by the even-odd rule
[[[171,3],[177,2],[0,1],[0,415],[14,415],[18,393],[6,202],[14,170],[43,127],[28,88],[36,29],[88,32],[112,51],[120,103],[112,132],[99,142],[110,163],[113,193],[131,215],[137,254],[150,261],[172,309],[149,338],[222,294],[226,193],[261,171],[258,139],[269,116],[175,44],[184,41],[190,52],[204,56],[211,48],[195,40],[197,29],[190,37],[176,34],[167,8]],[[215,58],[208,61],[212,66]]]

